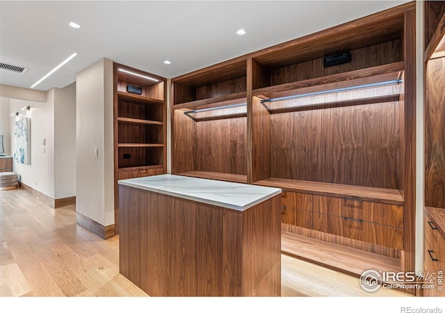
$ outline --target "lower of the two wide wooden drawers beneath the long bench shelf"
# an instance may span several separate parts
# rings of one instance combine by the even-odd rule
[[[314,230],[403,250],[403,228],[314,213]]]

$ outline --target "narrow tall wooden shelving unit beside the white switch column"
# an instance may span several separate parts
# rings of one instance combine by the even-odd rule
[[[114,63],[115,232],[118,179],[166,172],[166,79]]]

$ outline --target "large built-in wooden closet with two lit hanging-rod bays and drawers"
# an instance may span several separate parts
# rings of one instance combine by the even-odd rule
[[[405,3],[172,79],[172,172],[283,188],[285,232],[414,271],[414,34]]]

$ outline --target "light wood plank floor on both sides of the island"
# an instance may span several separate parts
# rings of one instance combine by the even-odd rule
[[[28,191],[0,191],[0,296],[147,296],[119,273],[119,237],[76,224],[74,206],[53,209]],[[282,296],[373,294],[357,278],[282,255]]]

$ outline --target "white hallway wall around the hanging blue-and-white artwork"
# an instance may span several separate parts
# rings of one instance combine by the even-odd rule
[[[23,106],[31,106],[30,111],[22,111]],[[19,112],[19,116],[11,116]],[[31,102],[10,99],[11,149],[14,153],[15,122],[22,118],[31,118],[31,164],[14,161],[14,171],[24,184],[54,198],[54,90],[47,92],[47,102]],[[46,145],[42,145],[42,140]]]

